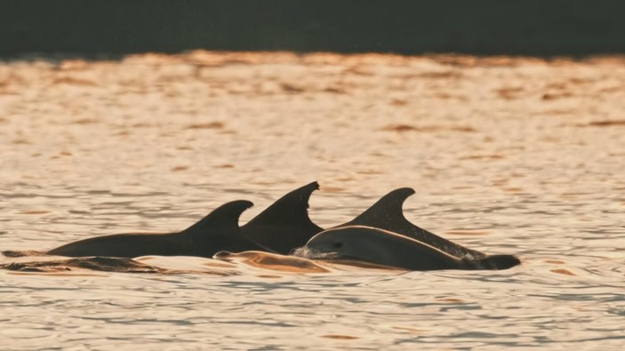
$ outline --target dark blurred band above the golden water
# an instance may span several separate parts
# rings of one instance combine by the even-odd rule
[[[625,53],[621,0],[4,0],[0,56],[189,49]]]

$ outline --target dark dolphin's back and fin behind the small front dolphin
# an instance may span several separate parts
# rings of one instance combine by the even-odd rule
[[[369,209],[359,215],[356,219],[338,227],[379,227],[397,234],[412,237],[413,239],[419,240],[421,243],[427,243],[430,246],[434,246],[437,249],[445,251],[457,258],[462,258],[467,255],[474,258],[481,258],[485,256],[485,254],[480,251],[471,250],[457,243],[450,242],[449,240],[430,233],[421,227],[415,226],[408,219],[405,219],[402,207],[405,200],[413,194],[414,189],[410,187],[400,187],[395,189],[389,194],[382,196],[378,202],[373,203]]]

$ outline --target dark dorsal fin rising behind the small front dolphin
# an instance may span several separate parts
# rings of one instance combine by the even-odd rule
[[[404,206],[405,200],[414,193],[414,189],[411,187],[395,189],[389,194],[382,196],[380,200],[373,203],[371,207],[357,218],[352,219],[341,227],[369,226],[391,230],[389,229],[391,227],[412,225],[408,219],[405,219],[402,207]]]

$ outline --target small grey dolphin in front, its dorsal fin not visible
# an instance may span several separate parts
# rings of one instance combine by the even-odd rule
[[[357,259],[407,270],[507,269],[521,262],[511,255],[459,258],[428,243],[388,230],[348,226],[325,230],[308,241],[308,250],[332,259]]]

